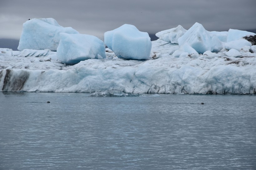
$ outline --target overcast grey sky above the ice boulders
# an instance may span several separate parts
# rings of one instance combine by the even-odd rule
[[[155,34],[195,22],[208,31],[256,29],[256,0],[1,0],[0,38],[19,39],[29,18],[54,18],[81,34],[103,36],[123,24]]]

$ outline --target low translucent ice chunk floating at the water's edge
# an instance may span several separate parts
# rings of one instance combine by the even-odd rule
[[[139,97],[140,94],[124,93],[120,90],[106,90],[104,92],[91,93],[91,97]]]

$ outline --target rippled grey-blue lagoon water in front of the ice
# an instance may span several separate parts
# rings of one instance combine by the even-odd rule
[[[89,95],[0,92],[0,169],[256,169],[254,95]]]

